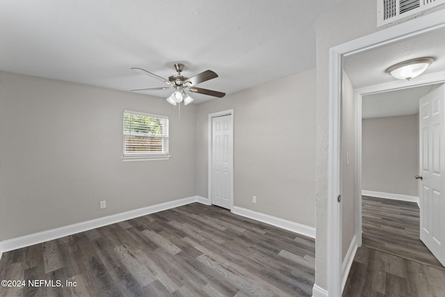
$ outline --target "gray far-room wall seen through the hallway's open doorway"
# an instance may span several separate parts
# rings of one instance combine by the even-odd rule
[[[418,196],[419,115],[362,120],[362,189]]]

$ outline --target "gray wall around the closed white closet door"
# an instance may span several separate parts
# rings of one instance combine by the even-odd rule
[[[315,227],[315,73],[197,105],[197,195],[208,195],[208,115],[234,109],[234,205]]]

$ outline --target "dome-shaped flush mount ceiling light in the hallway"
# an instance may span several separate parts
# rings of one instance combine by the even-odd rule
[[[434,62],[434,58],[415,58],[392,65],[386,72],[396,79],[406,79],[409,81],[413,77],[418,77],[422,74],[432,62]]]

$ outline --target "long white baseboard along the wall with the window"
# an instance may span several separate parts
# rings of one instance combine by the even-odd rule
[[[125,211],[120,214],[113,214],[111,216],[104,216],[102,218],[96,218],[94,220],[87,220],[86,222],[76,223],[47,231],[20,236],[15,239],[8,239],[6,241],[0,242],[0,252],[2,254],[3,252],[8,252],[10,250],[17,250],[17,248],[33,246],[34,244],[37,243],[58,239],[64,236],[70,236],[72,234],[76,234],[79,232],[92,230],[98,227],[103,227],[105,225],[119,223],[122,222],[123,220],[130,220],[131,218],[137,218],[138,216],[153,214],[158,211],[180,207],[182,205],[190,204],[193,202],[199,202],[197,196],[164,202],[161,204],[156,204],[149,207],[143,207],[140,209],[133,209],[131,211]]]

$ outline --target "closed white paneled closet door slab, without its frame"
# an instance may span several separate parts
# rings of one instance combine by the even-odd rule
[[[218,207],[232,207],[232,115],[212,118],[211,201]]]

